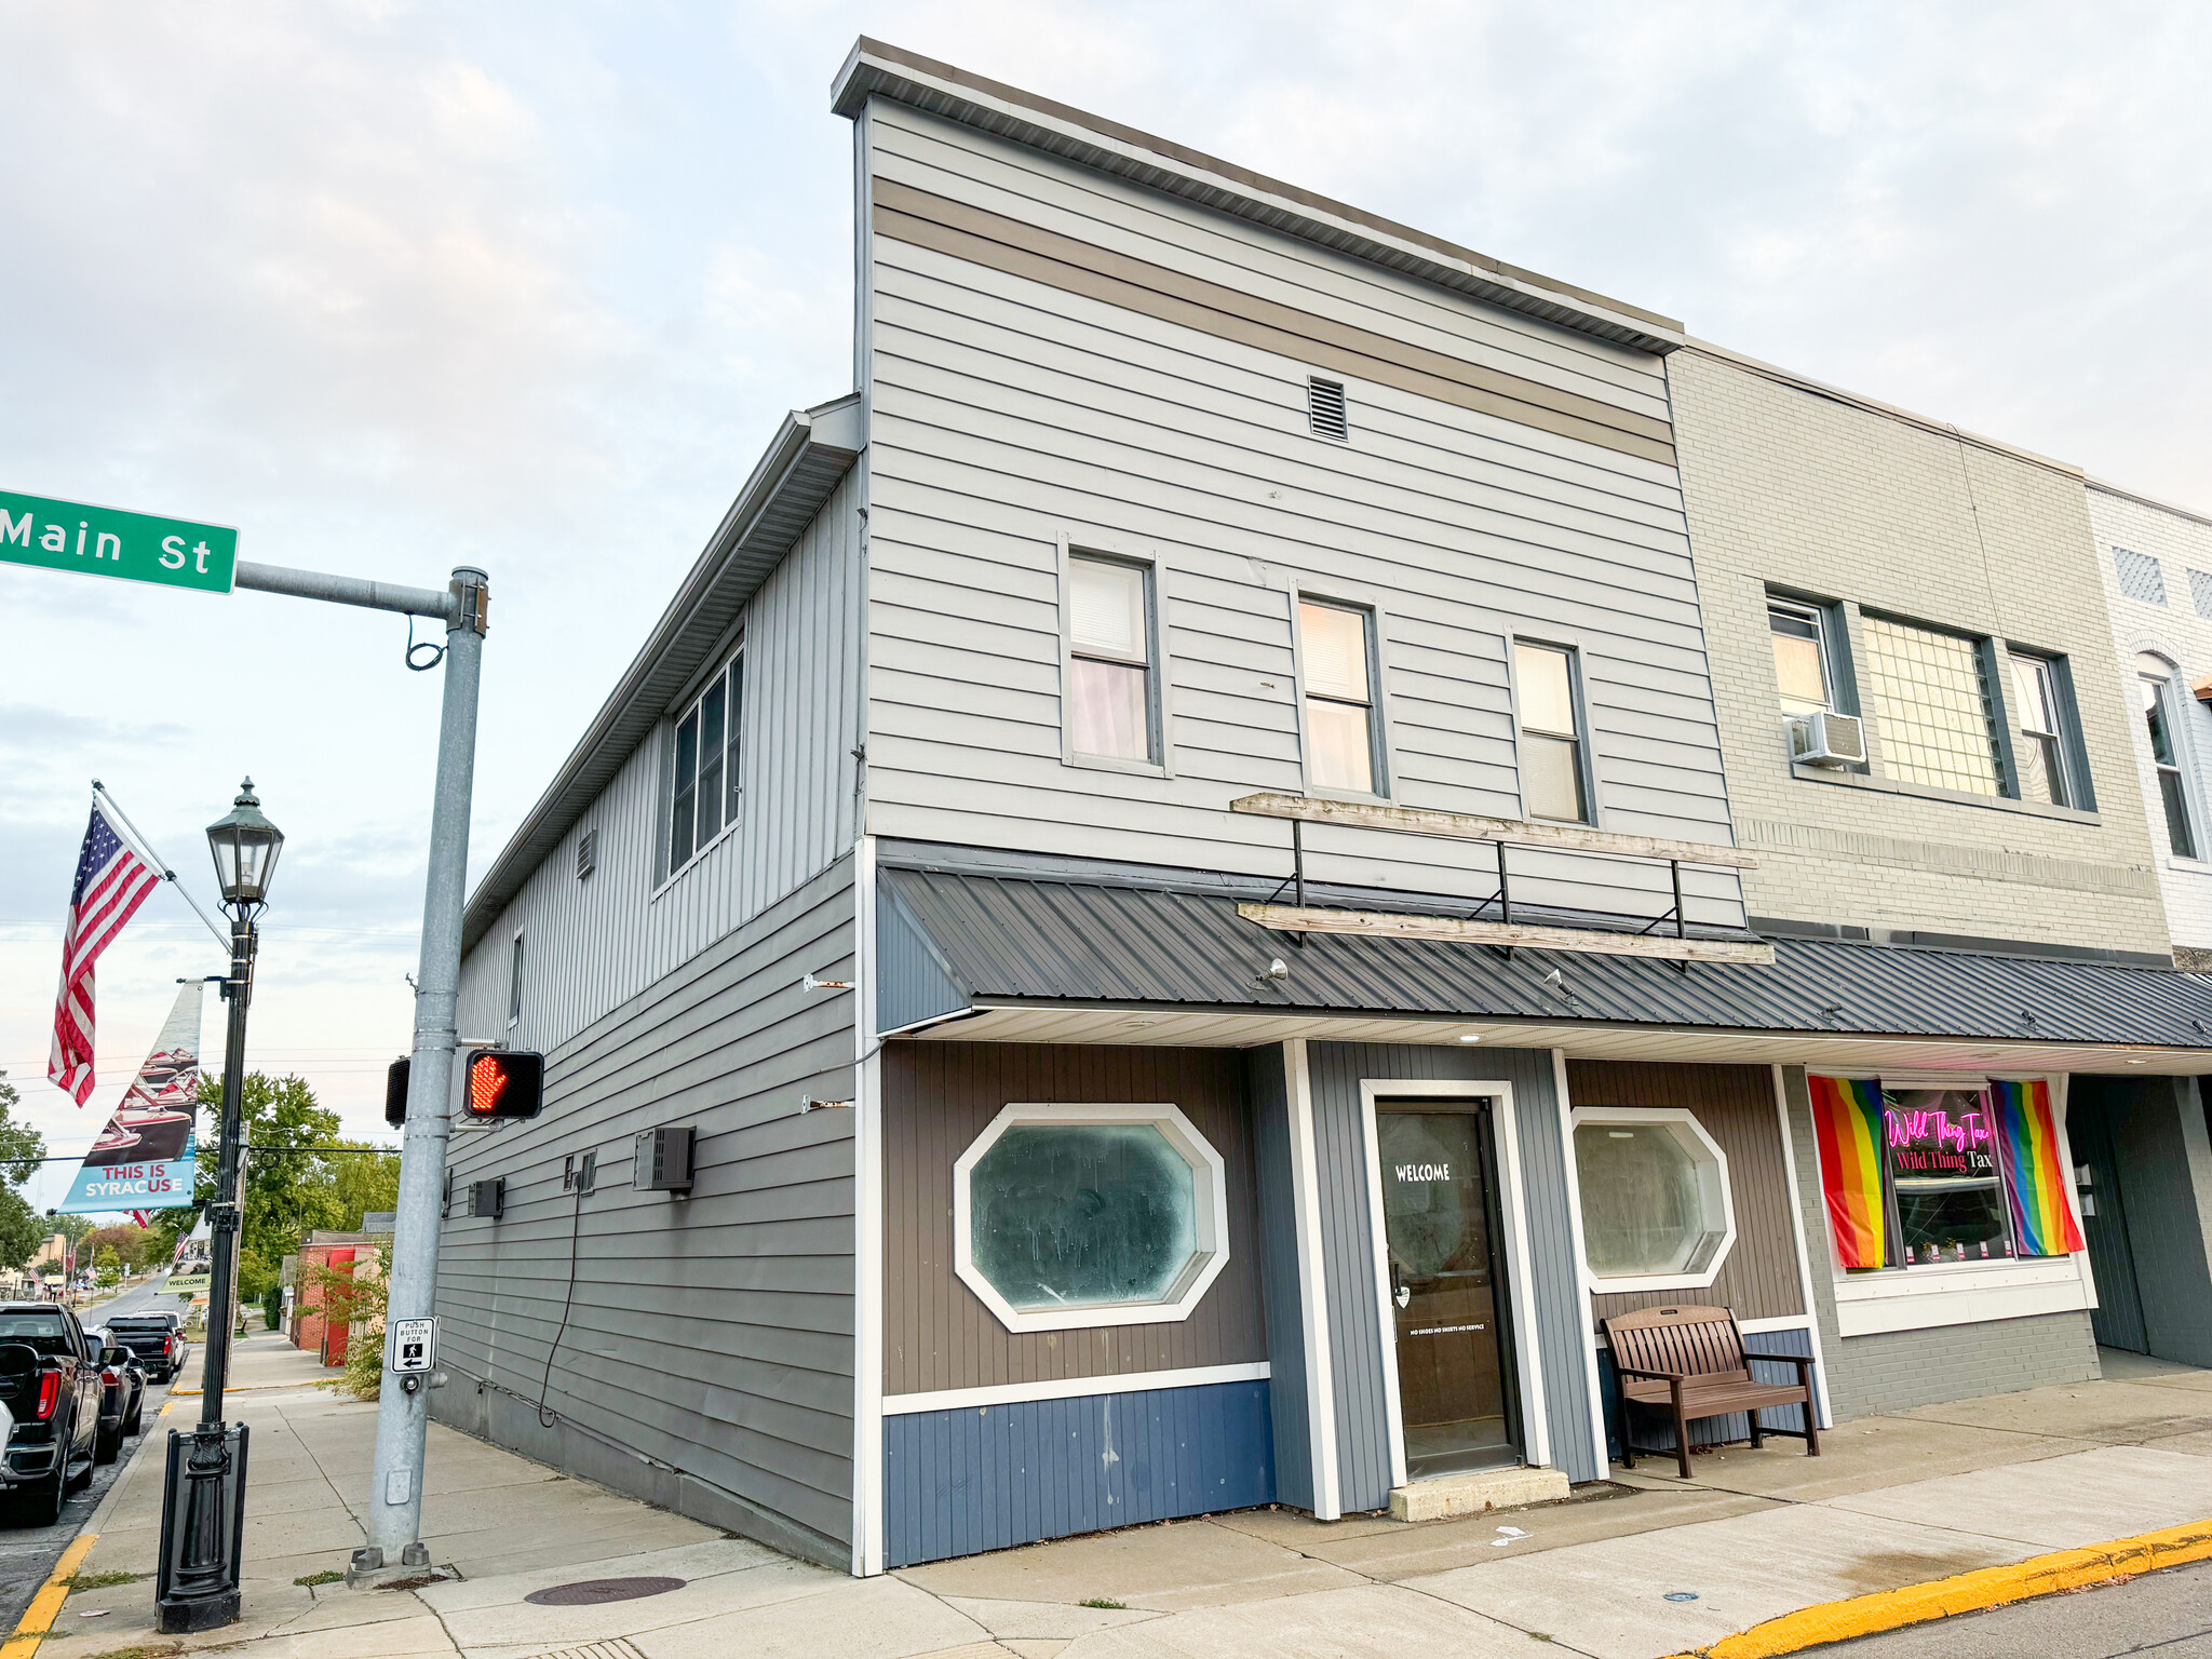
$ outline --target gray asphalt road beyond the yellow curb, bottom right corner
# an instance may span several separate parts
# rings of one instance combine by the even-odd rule
[[[2212,1562],[1818,1648],[1834,1659],[2212,1659]]]

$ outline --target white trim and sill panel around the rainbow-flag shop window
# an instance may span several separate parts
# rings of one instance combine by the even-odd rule
[[[1865,1073],[1807,1071],[1807,1077],[1858,1077]],[[2073,1139],[2066,1133],[2066,1073],[2002,1073],[2004,1082],[2051,1088],[2051,1124],[2059,1133],[2059,1168],[2070,1170]],[[1900,1073],[1878,1077],[1885,1088],[1986,1088],[1989,1077],[1955,1073]],[[1818,1157],[1818,1155],[1816,1155]],[[2081,1225],[2081,1199],[2066,1183],[2066,1212]],[[1922,1263],[1849,1272],[1836,1252],[1836,1230],[1820,1203],[1820,1237],[1827,1241],[1827,1272],[1836,1292],[1836,1334],[1924,1332],[1942,1325],[1982,1325],[1993,1318],[2070,1314],[2097,1307],[2097,1279],[2088,1250],[2070,1256],[2008,1256],[2004,1261]],[[2084,1241],[2088,1234],[2084,1232]]]

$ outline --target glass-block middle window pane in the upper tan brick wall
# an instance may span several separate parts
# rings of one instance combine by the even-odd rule
[[[1938,790],[2000,794],[1993,699],[1980,646],[1889,617],[1869,615],[1865,624],[1882,770]]]

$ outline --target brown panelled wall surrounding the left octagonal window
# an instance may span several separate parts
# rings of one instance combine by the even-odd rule
[[[1237,1048],[894,1042],[883,1051],[883,1391],[1267,1358],[1252,1119]],[[1228,1164],[1230,1263],[1172,1325],[1009,1332],[953,1272],[953,1161],[1013,1102],[1172,1102]]]

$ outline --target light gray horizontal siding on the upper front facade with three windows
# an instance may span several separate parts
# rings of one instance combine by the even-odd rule
[[[1113,250],[1666,431],[1657,358],[885,100],[860,161],[878,195],[951,204],[931,208],[938,246],[883,201],[867,234],[874,834],[1283,874],[1287,825],[1223,807],[1303,787],[1303,584],[1378,611],[1398,803],[1520,816],[1506,664],[1522,630],[1584,653],[1599,827],[1730,838],[1663,442],[1630,453],[1356,376],[1352,442],[1316,438],[1312,361],[1208,332],[1206,307],[1183,325],[1113,303],[1093,279]],[[989,239],[960,257],[951,221],[971,210],[1093,252],[1044,276]],[[1062,535],[1157,560],[1166,774],[1062,759]],[[1310,827],[1307,849],[1316,880],[1491,887],[1486,854],[1453,843]],[[1686,880],[1699,920],[1741,916],[1732,874]],[[1655,914],[1663,883],[1663,867],[1515,858],[1528,902]]]

